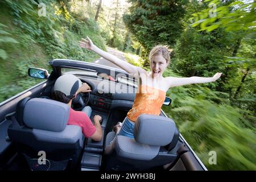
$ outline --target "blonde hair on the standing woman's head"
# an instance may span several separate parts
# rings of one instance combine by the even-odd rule
[[[164,57],[164,59],[166,59],[166,63],[170,63],[170,61],[171,61],[170,53],[171,52],[172,52],[172,49],[168,49],[168,46],[158,45],[158,46],[153,47],[151,49],[150,55],[149,55],[150,63],[152,62],[152,59],[158,55],[162,55]]]

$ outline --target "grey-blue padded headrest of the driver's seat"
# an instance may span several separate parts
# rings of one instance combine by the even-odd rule
[[[23,111],[24,124],[33,129],[63,131],[69,118],[69,106],[46,98],[32,98]]]

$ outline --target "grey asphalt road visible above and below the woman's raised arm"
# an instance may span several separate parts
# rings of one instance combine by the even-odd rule
[[[111,53],[112,55],[117,56],[119,59],[125,61],[125,55],[124,55],[123,52],[117,51],[117,50],[115,50],[115,49],[113,49],[113,48],[110,48],[110,47],[107,48],[107,51],[108,51],[109,53]],[[113,68],[122,69],[122,68],[118,67],[117,65],[111,63],[110,61],[104,59],[103,57],[100,57],[100,59],[97,59],[97,60],[93,61],[93,63],[105,65],[105,66],[108,66],[108,67],[113,67]]]

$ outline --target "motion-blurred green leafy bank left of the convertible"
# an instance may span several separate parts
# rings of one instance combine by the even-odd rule
[[[0,102],[42,81],[27,76],[29,67],[51,72],[47,64],[51,59],[97,59],[98,55],[79,47],[82,37],[90,36],[105,49],[98,24],[90,17],[77,17],[68,1],[41,2],[46,4],[46,16],[38,15],[40,8],[33,0],[1,2]]]

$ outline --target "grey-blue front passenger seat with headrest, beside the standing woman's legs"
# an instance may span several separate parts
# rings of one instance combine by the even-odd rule
[[[134,139],[112,131],[105,140],[105,148],[113,140],[114,150],[105,155],[106,170],[145,170],[162,168],[177,158],[179,131],[172,119],[142,114],[134,126]]]

